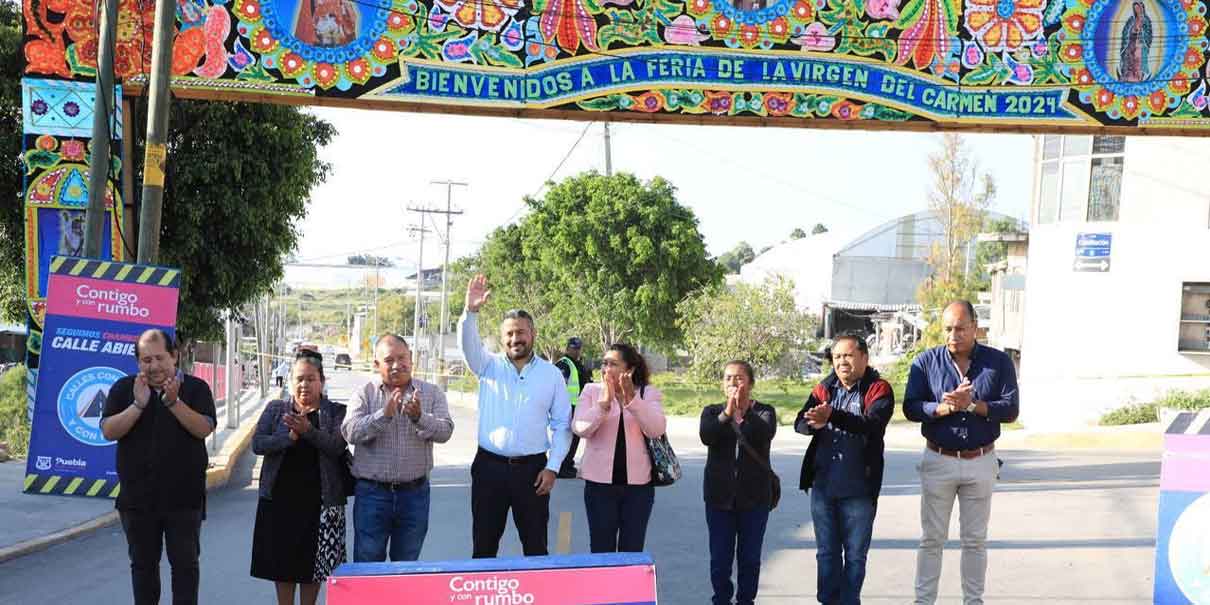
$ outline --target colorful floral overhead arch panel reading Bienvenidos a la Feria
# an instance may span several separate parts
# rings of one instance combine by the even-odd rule
[[[91,79],[91,0],[24,0],[27,75]],[[1199,133],[1204,0],[177,0],[179,94],[785,126]],[[146,81],[154,1],[120,0]]]

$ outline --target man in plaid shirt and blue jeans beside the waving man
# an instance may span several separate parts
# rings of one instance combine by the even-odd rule
[[[353,396],[341,426],[356,450],[353,560],[414,561],[428,534],[433,443],[450,439],[454,420],[445,393],[411,376],[403,338],[379,339],[374,369],[379,375]]]

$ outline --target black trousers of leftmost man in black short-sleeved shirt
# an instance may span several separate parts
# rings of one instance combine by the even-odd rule
[[[134,605],[160,603],[160,555],[165,546],[172,566],[172,603],[196,605],[202,511],[121,511],[120,515],[131,557]]]

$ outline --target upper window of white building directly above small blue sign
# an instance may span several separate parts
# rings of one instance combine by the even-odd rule
[[[1038,224],[1118,220],[1125,137],[1042,138]]]

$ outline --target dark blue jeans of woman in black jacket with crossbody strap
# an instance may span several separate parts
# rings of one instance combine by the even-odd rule
[[[710,534],[710,584],[714,605],[753,605],[760,584],[760,554],[765,543],[768,508],[722,511],[705,505],[705,528]],[[737,563],[736,587],[731,584],[731,564]]]

